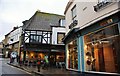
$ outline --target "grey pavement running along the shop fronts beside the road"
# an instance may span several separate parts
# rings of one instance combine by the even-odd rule
[[[40,72],[38,72],[37,67],[35,66],[20,66],[18,63],[7,63],[11,66],[20,68],[22,70],[25,70],[27,72],[33,73],[34,76],[120,76],[116,74],[102,74],[102,73],[81,73],[81,72],[75,72],[75,71],[69,71],[65,68],[55,68],[55,67],[49,67],[48,69],[40,69]]]

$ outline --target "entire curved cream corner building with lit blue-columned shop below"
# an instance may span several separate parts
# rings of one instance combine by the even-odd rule
[[[70,0],[65,20],[66,69],[120,73],[120,1]]]

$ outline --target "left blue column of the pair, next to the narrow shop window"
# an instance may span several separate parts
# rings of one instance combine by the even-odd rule
[[[81,70],[81,46],[80,46],[80,37],[77,38],[77,48],[78,48],[78,71],[82,71]]]

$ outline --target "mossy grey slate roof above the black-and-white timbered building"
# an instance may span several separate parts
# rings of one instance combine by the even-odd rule
[[[64,18],[63,15],[36,11],[29,20],[23,22],[23,28],[26,30],[51,31],[51,26],[60,26],[59,20]]]

